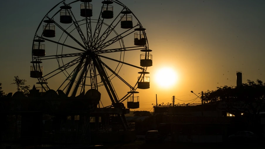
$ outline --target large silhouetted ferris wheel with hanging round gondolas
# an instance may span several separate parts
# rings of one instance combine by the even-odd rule
[[[152,66],[145,30],[118,0],[63,0],[37,28],[30,77],[38,78],[36,84],[43,90],[57,86],[56,91],[70,97],[103,87],[112,103],[106,107],[118,107],[127,99],[128,108],[139,108],[139,96],[134,94],[139,93],[136,89],[150,88],[146,74]],[[132,59],[139,60],[133,57],[139,52],[136,65]],[[121,71],[138,73],[138,78],[126,80]],[[119,98],[116,87],[127,91]]]

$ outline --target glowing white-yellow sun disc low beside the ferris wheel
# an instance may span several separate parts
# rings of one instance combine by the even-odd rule
[[[155,81],[159,87],[172,87],[177,81],[177,73],[172,68],[161,68],[155,74]]]

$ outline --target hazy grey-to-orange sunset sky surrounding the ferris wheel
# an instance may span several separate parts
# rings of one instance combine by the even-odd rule
[[[1,2],[0,82],[6,93],[16,91],[15,85],[11,84],[14,76],[26,79],[31,87],[37,82],[37,79],[30,78],[32,40],[42,18],[59,2]],[[171,103],[173,95],[181,100],[194,99],[196,96],[191,90],[199,93],[224,85],[235,86],[236,71],[242,71],[243,83],[247,79],[265,82],[264,0],[120,2],[133,11],[147,29],[149,48],[153,50],[153,66],[147,69],[150,89],[137,90],[140,92],[137,94],[140,96],[137,110],[151,110],[156,94],[159,104]],[[139,57],[126,58],[140,65]],[[178,76],[170,88],[161,88],[155,82],[155,74],[163,67],[172,68]],[[137,73],[130,73],[129,69],[125,71],[128,72],[125,78],[137,80]],[[168,79],[167,76],[164,79]],[[128,91],[119,92],[125,95]],[[103,104],[108,105],[110,100],[105,93],[102,94]],[[183,103],[176,100],[178,102]]]

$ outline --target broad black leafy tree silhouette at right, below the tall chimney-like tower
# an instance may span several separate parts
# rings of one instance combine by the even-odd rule
[[[241,109],[248,113],[259,114],[259,111],[265,110],[265,83],[259,79],[256,82],[247,80],[247,83],[238,87],[217,87],[215,91],[208,90],[203,95],[204,101],[224,101],[228,108],[231,108],[234,102],[244,102],[244,107]]]

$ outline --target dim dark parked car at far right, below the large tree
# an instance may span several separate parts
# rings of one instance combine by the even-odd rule
[[[250,131],[239,131],[228,137],[230,141],[256,141],[258,137]]]

